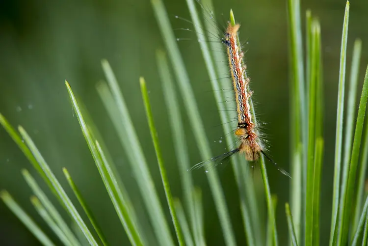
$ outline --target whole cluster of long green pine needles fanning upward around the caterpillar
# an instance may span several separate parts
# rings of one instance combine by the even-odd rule
[[[196,33],[201,35],[201,30],[208,30],[209,33],[216,33],[216,30],[209,23],[202,27],[200,15],[196,10],[196,3],[193,0],[186,0],[191,15],[192,22],[196,28]],[[166,194],[167,204],[170,209],[172,221],[167,221],[164,215],[164,207],[159,201],[158,192],[153,185],[147,161],[141,143],[136,135],[136,130],[131,121],[124,96],[119,88],[115,75],[106,60],[102,61],[102,68],[105,72],[106,81],[97,85],[97,91],[103,101],[114,126],[121,140],[121,144],[127,154],[135,181],[137,182],[140,194],[148,213],[154,236],[160,246],[204,246],[206,245],[205,224],[203,219],[201,190],[193,186],[187,145],[183,129],[183,121],[179,113],[178,97],[176,88],[184,102],[184,109],[189,119],[190,126],[196,136],[196,144],[203,160],[213,156],[210,143],[205,135],[204,124],[201,120],[198,106],[194,98],[193,90],[189,82],[189,77],[184,67],[183,58],[180,55],[173,28],[170,25],[168,14],[162,0],[151,0],[152,7],[158,22],[159,29],[164,37],[164,43],[168,58],[164,51],[157,51],[158,72],[162,82],[164,99],[170,119],[170,127],[173,134],[175,153],[183,189],[182,201],[173,198],[165,165],[158,142],[151,104],[148,97],[146,82],[140,78],[142,98],[146,110],[147,120],[151,132],[152,141],[156,150],[157,162],[162,178],[162,184]],[[208,7],[212,13],[211,0],[203,0],[202,6]],[[203,13],[207,14],[202,8]],[[291,246],[319,246],[320,244],[320,190],[321,190],[321,167],[323,163],[323,78],[322,78],[322,52],[320,24],[317,18],[313,17],[311,11],[306,12],[306,33],[302,37],[301,13],[299,0],[288,0],[288,20],[289,20],[289,50],[290,61],[290,107],[291,107],[291,144],[290,144],[290,194],[289,203],[285,204],[286,217],[289,228],[289,244]],[[231,11],[230,21],[234,25],[235,18]],[[367,246],[368,240],[368,197],[365,191],[365,173],[368,162],[368,121],[364,121],[368,99],[368,70],[366,72],[361,98],[359,102],[358,114],[356,112],[356,94],[358,86],[359,61],[362,44],[359,39],[354,43],[353,57],[351,62],[351,72],[349,89],[347,93],[347,107],[344,110],[345,94],[345,67],[346,49],[349,21],[349,2],[346,3],[345,14],[342,26],[342,41],[339,70],[338,104],[336,120],[336,143],[335,143],[335,169],[333,184],[332,219],[330,229],[330,246]],[[226,60],[222,54],[210,54],[210,50],[221,49],[218,43],[200,42],[201,50],[206,62],[211,85],[214,91],[215,100],[220,103],[225,101],[221,88],[228,87],[228,84],[219,83],[219,74],[227,71],[225,64],[214,65],[214,60]],[[211,47],[209,47],[209,45]],[[303,52],[306,47],[306,52]],[[171,75],[172,70],[174,77]],[[224,72],[225,71],[225,72]],[[174,81],[177,83],[174,84]],[[227,82],[226,82],[227,83]],[[124,183],[121,181],[116,167],[105,147],[103,137],[89,117],[87,111],[79,104],[79,100],[73,94],[68,82],[66,91],[77,115],[81,131],[85,137],[96,167],[101,175],[106,191],[115,208],[116,215],[121,221],[131,245],[153,245],[154,243],[147,237],[143,229],[142,222],[137,218],[134,205],[128,195]],[[68,106],[66,106],[68,107]],[[232,106],[227,106],[231,108]],[[343,115],[345,114],[345,118]],[[227,110],[220,111],[222,123],[226,123],[229,117]],[[0,124],[19,146],[29,162],[37,170],[50,190],[56,196],[61,207],[67,211],[72,220],[72,225],[63,218],[56,207],[52,204],[44,191],[37,184],[30,172],[22,170],[26,183],[31,188],[33,195],[31,203],[39,215],[46,221],[52,231],[57,236],[59,242],[54,243],[48,235],[31,219],[22,207],[13,199],[7,191],[1,191],[0,198],[8,208],[25,224],[33,235],[45,246],[59,245],[66,246],[79,245],[109,245],[104,235],[104,228],[101,228],[93,217],[88,204],[83,199],[73,181],[72,174],[63,168],[74,195],[78,198],[83,211],[77,211],[75,205],[69,198],[72,194],[67,194],[53,171],[47,164],[37,149],[33,140],[26,130],[21,126],[18,131],[14,129],[6,118],[0,114]],[[355,124],[355,130],[354,130]],[[231,132],[229,124],[223,124],[224,132]],[[363,140],[362,140],[363,137]],[[342,141],[344,139],[344,141]],[[226,142],[232,143],[234,136],[227,135]],[[344,143],[344,144],[342,144]],[[361,148],[362,145],[362,148]],[[152,163],[152,160],[150,161]],[[217,171],[214,168],[206,174],[213,204],[216,208],[220,226],[223,232],[226,246],[244,245],[249,246],[277,246],[278,234],[274,209],[276,197],[271,195],[268,185],[267,173],[263,158],[260,161],[260,168],[263,178],[265,201],[267,204],[267,221],[260,220],[260,211],[257,205],[256,194],[252,179],[247,178],[247,164],[243,157],[235,156],[232,159],[235,181],[239,192],[239,204],[241,219],[244,226],[244,238],[241,242],[236,242],[235,233],[229,217],[229,208],[225,201]],[[358,176],[357,176],[358,175]],[[88,228],[83,221],[81,212],[84,212],[93,228]],[[172,222],[172,223],[171,223]],[[266,225],[266,226],[264,226]],[[174,226],[176,238],[170,232],[170,226]],[[265,229],[266,228],[266,229]],[[264,237],[265,235],[265,237]]]

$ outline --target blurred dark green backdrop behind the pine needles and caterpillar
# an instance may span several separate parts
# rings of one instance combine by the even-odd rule
[[[286,0],[213,0],[213,2],[216,20],[221,25],[226,25],[230,8],[234,10],[237,21],[241,24],[240,38],[244,42],[244,50],[247,51],[245,56],[248,73],[252,78],[251,88],[255,91],[253,100],[257,102],[259,119],[269,123],[265,126],[264,132],[272,144],[270,153],[278,164],[289,170]],[[164,0],[164,3],[173,28],[193,29],[190,23],[175,19],[175,15],[190,19],[184,0]],[[322,170],[321,245],[328,242],[330,229],[337,85],[344,6],[344,0],[302,1],[303,19],[305,10],[311,8],[312,14],[319,17],[322,27],[326,148]],[[199,5],[197,7],[199,9]],[[368,1],[352,0],[347,75],[350,70],[353,41],[360,37],[363,40],[360,84],[363,83],[363,73],[368,63],[367,24]],[[219,126],[216,103],[196,35],[183,30],[175,30],[175,34],[178,38],[189,39],[180,41],[179,46],[202,119],[207,126],[206,134],[212,142],[212,152],[216,155],[221,154],[226,144],[218,142],[220,137],[223,137],[222,127]],[[71,84],[74,92],[79,95],[90,112],[118,165],[119,173],[128,187],[136,211],[144,221],[142,224],[149,227],[150,222],[146,218],[126,154],[95,89],[96,83],[104,79],[101,59],[106,58],[110,62],[126,97],[167,219],[171,221],[138,83],[139,76],[144,76],[150,91],[172,193],[174,196],[182,197],[156,66],[155,53],[158,48],[164,46],[149,0],[0,1],[0,112],[14,126],[22,125],[26,129],[63,187],[72,194],[61,168],[65,166],[69,169],[104,228],[111,245],[127,245],[129,241],[116,217],[77,118],[73,114],[64,81],[67,80]],[[220,77],[226,76],[228,75]],[[360,90],[358,93],[360,94]],[[190,161],[196,164],[201,159],[184,110],[182,114]],[[42,187],[47,190],[22,152],[0,128],[0,189],[8,190],[36,222],[53,235],[29,202],[31,192],[20,173],[21,168],[27,168],[35,174]],[[238,191],[232,167],[227,165],[225,168],[220,167],[218,171],[238,245],[243,245]],[[271,191],[279,197],[277,226],[280,244],[285,245],[288,234],[284,203],[289,199],[289,179],[271,165],[268,174]],[[224,244],[222,232],[205,175],[203,170],[193,172],[195,184],[203,189],[208,245],[220,246]],[[262,191],[261,176],[257,168],[253,179],[256,187]],[[52,197],[50,192],[48,194]],[[71,197],[76,201],[73,195]],[[56,204],[56,200],[53,201]],[[61,207],[59,209],[61,211]],[[67,216],[66,213],[63,215]],[[173,228],[172,231],[174,235]],[[3,203],[0,203],[0,245],[39,245]]]

